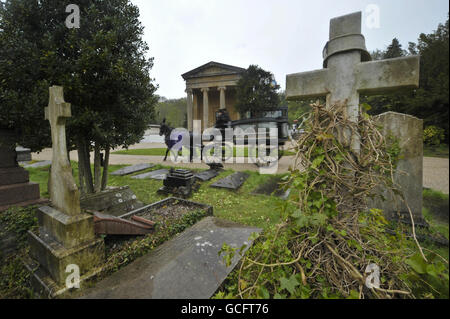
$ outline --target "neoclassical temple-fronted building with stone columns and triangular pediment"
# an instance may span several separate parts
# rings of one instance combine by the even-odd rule
[[[189,131],[192,131],[193,120],[202,121],[202,130],[212,127],[219,109],[226,109],[231,120],[239,119],[234,110],[236,84],[244,71],[236,66],[209,62],[181,75],[186,81]]]

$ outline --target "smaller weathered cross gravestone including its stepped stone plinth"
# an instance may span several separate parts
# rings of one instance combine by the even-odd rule
[[[37,210],[39,231],[29,231],[31,262],[35,288],[39,293],[55,293],[64,287],[70,274],[66,267],[75,265],[81,280],[104,259],[104,243],[95,236],[93,216],[80,210],[80,195],[67,157],[65,120],[71,116],[70,104],[64,102],[63,88],[50,88],[45,109],[52,133],[52,167],[49,193],[52,207]],[[56,289],[56,290],[55,290]]]

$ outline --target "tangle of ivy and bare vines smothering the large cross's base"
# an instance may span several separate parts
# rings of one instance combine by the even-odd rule
[[[382,212],[368,209],[379,187],[398,192],[393,179],[398,154],[366,113],[355,123],[345,104],[311,107],[307,133],[296,141],[294,169],[284,182],[294,194],[281,209],[283,222],[243,256],[237,285],[228,291],[241,298],[414,297],[401,274],[417,248],[400,233],[386,234]],[[349,132],[359,136],[359,154],[345,142]],[[373,263],[379,288],[366,285],[366,267]]]

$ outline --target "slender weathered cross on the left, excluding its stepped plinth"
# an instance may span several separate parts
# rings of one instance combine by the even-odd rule
[[[50,87],[50,99],[45,108],[45,119],[52,131],[52,167],[49,193],[52,206],[70,216],[80,214],[80,194],[72,176],[67,157],[66,118],[71,117],[70,103],[64,102],[63,88]]]

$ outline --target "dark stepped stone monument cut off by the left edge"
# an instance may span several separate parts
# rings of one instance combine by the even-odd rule
[[[28,171],[16,158],[14,133],[0,129],[0,211],[47,202],[40,198],[39,184],[29,182]]]

